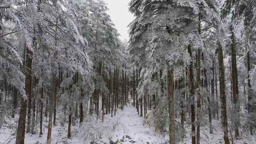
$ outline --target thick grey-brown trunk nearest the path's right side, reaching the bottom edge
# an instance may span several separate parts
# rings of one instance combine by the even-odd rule
[[[169,139],[170,144],[175,144],[175,111],[174,111],[174,70],[173,68],[168,70],[168,109],[169,109]]]

